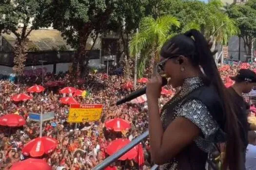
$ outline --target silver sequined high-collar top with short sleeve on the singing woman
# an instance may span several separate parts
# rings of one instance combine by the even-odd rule
[[[199,100],[189,100],[183,102],[185,97],[198,87],[204,85],[199,77],[187,78],[181,87],[181,90],[167,102],[161,112],[161,121],[163,129],[177,117],[189,119],[201,130],[202,136],[194,139],[197,147],[204,152],[208,152],[219,138],[222,138],[223,132],[220,130],[217,121],[213,119],[206,105]],[[168,163],[160,165],[160,170],[179,170],[177,158],[173,158]]]

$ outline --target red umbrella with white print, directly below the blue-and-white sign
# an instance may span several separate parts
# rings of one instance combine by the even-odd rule
[[[22,153],[32,157],[42,156],[43,154],[53,152],[56,149],[57,144],[58,141],[54,138],[47,136],[38,137],[29,141],[22,149]]]

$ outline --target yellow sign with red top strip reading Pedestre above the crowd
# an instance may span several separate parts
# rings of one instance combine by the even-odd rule
[[[70,104],[68,122],[95,121],[101,118],[102,104]]]

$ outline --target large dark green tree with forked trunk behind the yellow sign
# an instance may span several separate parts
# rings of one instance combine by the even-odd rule
[[[55,0],[52,5],[54,28],[61,31],[67,42],[77,50],[73,61],[73,73],[77,75],[89,63],[86,43],[106,31],[117,9],[118,0]],[[86,64],[84,65],[84,62]]]

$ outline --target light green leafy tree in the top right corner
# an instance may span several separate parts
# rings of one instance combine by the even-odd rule
[[[252,44],[256,40],[256,0],[249,0],[245,5],[232,4],[227,7],[227,13],[229,17],[236,19],[238,36],[244,41],[247,55],[251,55]]]

